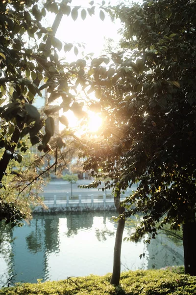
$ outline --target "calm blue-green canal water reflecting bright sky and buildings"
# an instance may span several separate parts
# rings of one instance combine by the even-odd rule
[[[115,212],[39,214],[29,224],[13,230],[1,224],[1,249],[6,251],[0,251],[0,279],[5,282],[15,275],[14,282],[36,282],[111,272],[117,228],[117,223],[111,221],[113,215]],[[124,236],[133,232],[139,219],[133,217],[126,223]],[[140,260],[144,252],[145,258]],[[182,245],[165,235],[148,246],[144,239],[123,242],[122,270],[172,265],[183,265]]]

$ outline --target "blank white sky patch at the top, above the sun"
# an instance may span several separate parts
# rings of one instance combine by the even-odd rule
[[[82,7],[91,7],[88,3],[89,0],[73,0],[71,5],[81,5],[82,9]],[[111,1],[111,5],[117,3],[118,0]],[[87,17],[83,21],[80,16],[81,9],[78,10],[78,18],[76,21],[73,21],[71,15],[63,16],[56,37],[65,43],[86,43],[85,54],[93,52],[97,57],[101,54],[101,50],[104,47],[104,37],[112,38],[118,42],[120,37],[117,30],[121,27],[121,24],[119,20],[113,23],[107,13],[105,13],[104,21],[101,21],[99,18],[99,8],[95,9],[95,15],[89,16],[87,13]],[[66,54],[66,57],[75,59],[73,53]],[[80,53],[76,58],[81,58]]]

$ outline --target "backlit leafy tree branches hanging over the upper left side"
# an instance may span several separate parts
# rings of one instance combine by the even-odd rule
[[[51,151],[49,141],[55,133],[53,115],[60,109],[72,109],[80,118],[84,114],[83,105],[73,93],[77,92],[78,85],[84,87],[83,71],[86,60],[78,59],[71,65],[62,62],[58,52],[63,44],[55,34],[63,15],[70,15],[75,21],[80,13],[84,20],[87,13],[90,16],[94,14],[95,5],[91,1],[88,9],[84,9],[80,6],[72,7],[71,2],[72,0],[0,2],[0,147],[3,150],[0,159],[0,187],[5,188],[2,178],[6,177],[10,160],[14,158],[18,163],[23,160],[22,154],[26,150],[25,135],[29,136],[31,145],[39,144],[38,150],[48,154]],[[103,20],[105,8],[102,5],[99,8],[100,18]],[[54,13],[55,19],[50,28],[45,28],[43,19],[48,12]],[[27,45],[27,38],[30,40],[28,43],[33,43],[33,46]],[[73,44],[66,43],[64,51],[72,48],[77,55],[78,49]],[[41,116],[32,105],[36,95],[42,96],[43,89],[49,93],[45,116]],[[49,105],[60,97],[61,103],[57,106]],[[64,125],[68,125],[64,117],[61,120]],[[63,137],[71,134],[69,129],[58,134],[55,163],[47,171],[52,167],[56,170]],[[38,174],[34,180],[40,176]],[[29,184],[31,183],[30,181]],[[7,207],[6,200],[3,202]]]

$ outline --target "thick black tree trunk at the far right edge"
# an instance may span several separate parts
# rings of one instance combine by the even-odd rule
[[[196,215],[189,213],[189,219],[182,225],[184,270],[186,274],[196,275]]]

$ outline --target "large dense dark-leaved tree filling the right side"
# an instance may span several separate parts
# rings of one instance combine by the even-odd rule
[[[148,0],[114,11],[123,23],[123,49],[111,55],[107,85],[95,81],[105,139],[99,148],[83,145],[84,168],[110,177],[106,188],[115,196],[139,181],[119,216],[144,214],[128,239],[148,233],[149,243],[157,227],[182,226],[185,273],[196,275],[196,1]]]

